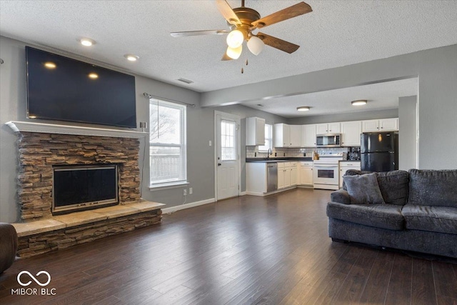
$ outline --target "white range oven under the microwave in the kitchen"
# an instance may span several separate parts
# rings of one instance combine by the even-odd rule
[[[313,162],[314,189],[339,189],[339,164],[343,160],[342,154],[321,155]]]

